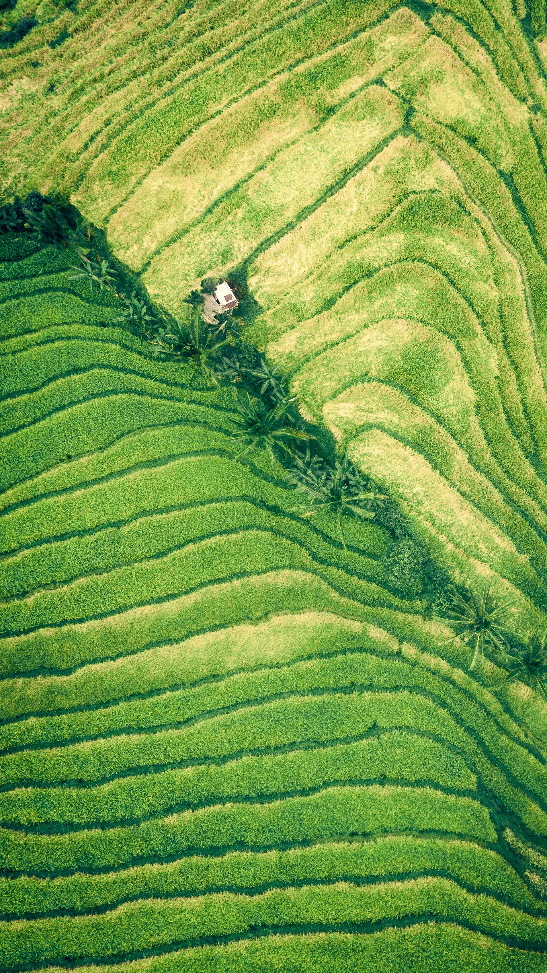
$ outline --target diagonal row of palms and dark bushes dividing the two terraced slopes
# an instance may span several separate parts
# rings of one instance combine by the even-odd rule
[[[284,464],[284,478],[305,502],[290,508],[303,517],[323,512],[332,514],[344,549],[344,519],[377,520],[394,537],[412,534],[412,528],[396,503],[380,491],[349,460],[346,452],[334,462],[313,450],[314,437],[298,411],[296,397],[276,368],[260,357],[256,349],[241,341],[237,319],[221,314],[216,323],[202,314],[203,294],[209,293],[212,278],[201,281],[201,291],[187,299],[188,314],[179,320],[157,313],[132,290],[130,297],[118,291],[118,271],[93,246],[93,231],[85,219],[74,218],[66,208],[55,206],[39,193],[30,193],[21,202],[0,207],[0,233],[25,231],[38,246],[68,247],[78,257],[72,265],[71,280],[89,280],[93,287],[107,290],[123,302],[116,319],[146,342],[159,357],[183,360],[193,368],[187,388],[199,373],[209,384],[226,381],[234,385],[237,458],[253,450],[266,450],[273,471]],[[452,588],[452,607],[438,621],[454,629],[447,642],[461,638],[472,651],[471,669],[487,658],[505,669],[503,683],[520,680],[538,690],[547,700],[547,631],[529,635],[511,626],[513,601],[498,603],[490,584],[482,591]]]

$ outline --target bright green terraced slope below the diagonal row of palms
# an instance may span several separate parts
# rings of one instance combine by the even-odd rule
[[[1,265],[28,300],[37,262]],[[52,324],[1,361],[2,964],[182,962],[257,924],[370,927],[372,957],[376,922],[434,917],[399,931],[417,969],[472,930],[528,968],[544,909],[501,831],[547,836],[542,756],[383,587],[385,533],[345,553],[296,519],[233,458],[230,396],[123,332]]]

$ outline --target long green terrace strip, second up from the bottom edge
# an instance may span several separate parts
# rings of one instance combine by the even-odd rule
[[[334,883],[326,887],[271,889],[255,897],[226,892],[202,901],[140,902],[121,906],[108,917],[31,920],[18,924],[13,932],[7,931],[2,958],[10,968],[16,955],[35,962],[67,954],[74,958],[108,957],[116,955],[120,947],[130,954],[145,943],[161,946],[192,942],[211,935],[213,930],[230,936],[256,925],[298,929],[302,925],[329,928],[345,923],[358,928],[391,917],[431,914],[444,920],[464,919],[472,929],[492,931],[494,935],[507,935],[515,922],[515,911],[509,907],[485,895],[471,895],[441,878],[372,887]],[[546,935],[545,919],[518,915],[527,942],[541,947]]]

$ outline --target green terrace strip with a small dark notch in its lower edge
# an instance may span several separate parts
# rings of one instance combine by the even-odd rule
[[[303,695],[244,706],[182,730],[74,743],[52,749],[46,765],[40,751],[8,755],[2,758],[0,774],[3,785],[29,779],[37,783],[104,780],[136,768],[184,766],[190,761],[216,760],[247,750],[359,739],[375,725],[399,725],[451,739],[460,749],[465,744],[450,716],[415,694],[401,692],[396,699],[380,693]]]

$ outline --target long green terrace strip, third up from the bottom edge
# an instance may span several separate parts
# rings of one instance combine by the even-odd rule
[[[358,880],[409,873],[441,874],[471,891],[490,890],[517,909],[544,911],[510,865],[496,851],[460,840],[397,836],[350,843],[325,842],[286,851],[231,851],[188,856],[164,865],[138,865],[122,872],[56,879],[4,879],[2,912],[47,913],[57,909],[84,912],[138,897],[221,888],[260,889],[268,885],[315,883],[341,878]]]

